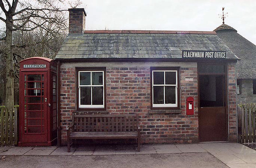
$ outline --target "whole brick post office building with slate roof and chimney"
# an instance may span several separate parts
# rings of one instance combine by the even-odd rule
[[[62,144],[72,113],[138,113],[142,143],[237,141],[238,58],[214,31],[86,31],[84,9],[69,12],[55,59]]]

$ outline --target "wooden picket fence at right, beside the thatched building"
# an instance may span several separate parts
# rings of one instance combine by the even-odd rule
[[[256,104],[238,105],[238,141],[240,143],[256,142]]]

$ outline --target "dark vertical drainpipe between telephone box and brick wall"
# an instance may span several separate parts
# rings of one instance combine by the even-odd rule
[[[57,111],[58,111],[58,147],[61,146],[61,127],[60,127],[60,61],[57,62]]]

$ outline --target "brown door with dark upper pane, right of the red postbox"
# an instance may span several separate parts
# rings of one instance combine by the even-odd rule
[[[199,75],[199,140],[227,140],[225,75]]]

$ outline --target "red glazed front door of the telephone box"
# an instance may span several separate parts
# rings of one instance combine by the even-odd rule
[[[47,141],[47,74],[46,72],[21,72],[20,138],[23,142]]]

